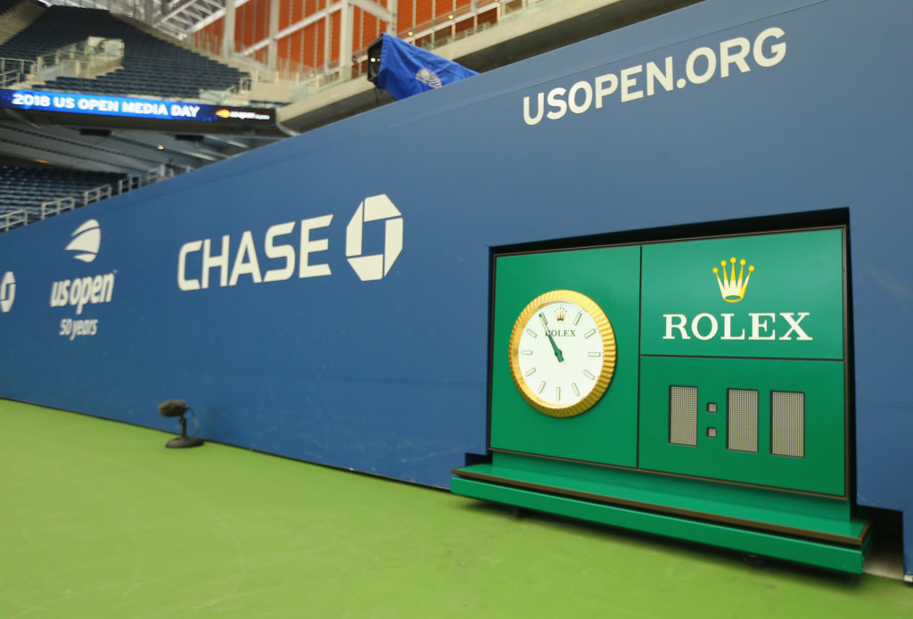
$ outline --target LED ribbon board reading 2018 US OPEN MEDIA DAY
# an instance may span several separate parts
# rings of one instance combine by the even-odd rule
[[[42,90],[0,90],[0,107],[12,110],[60,111],[71,114],[124,116],[160,121],[275,123],[275,112],[260,108],[233,108],[187,101],[139,99],[111,95]]]

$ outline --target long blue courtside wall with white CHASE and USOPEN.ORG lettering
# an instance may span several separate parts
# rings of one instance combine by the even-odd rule
[[[4,234],[0,396],[169,430],[155,406],[181,397],[206,438],[446,487],[486,450],[490,247],[845,207],[857,500],[913,531],[910,23],[909,3],[708,1]],[[722,77],[720,43],[739,37],[750,70]],[[686,76],[701,47],[718,60],[706,81],[703,51]],[[666,91],[646,63],[669,56]],[[599,109],[524,121],[524,97],[534,114],[538,93],[623,69],[630,100],[619,84]],[[404,248],[361,281],[346,227],[376,194],[402,213]],[[299,257],[301,220],[321,215],[310,238],[328,248],[309,260],[331,275],[223,288],[215,268],[208,289],[178,288],[184,244],[217,254],[229,235],[231,267],[249,230],[265,274],[285,264],[266,256],[269,226],[296,223],[274,245]],[[65,247],[88,219],[101,244],[83,263]],[[384,222],[363,229],[363,253],[383,252]],[[200,264],[190,253],[185,278]],[[115,271],[109,303],[50,307],[52,282]],[[98,332],[70,341],[65,319]],[[905,545],[913,572],[911,532]]]

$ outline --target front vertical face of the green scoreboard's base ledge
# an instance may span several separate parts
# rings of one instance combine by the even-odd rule
[[[530,490],[508,488],[469,479],[453,479],[451,489],[457,494],[467,497],[497,501],[521,508],[547,511],[571,518],[642,530],[698,543],[713,544],[786,561],[803,562],[841,572],[862,573],[864,558],[862,549],[850,549],[818,541],[797,540],[771,533],[675,518],[575,498],[554,497]]]

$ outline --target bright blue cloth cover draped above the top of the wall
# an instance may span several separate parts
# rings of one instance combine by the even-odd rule
[[[471,68],[441,58],[402,39],[383,35],[377,88],[389,91],[397,100],[426,90],[439,89],[474,75],[478,73]]]

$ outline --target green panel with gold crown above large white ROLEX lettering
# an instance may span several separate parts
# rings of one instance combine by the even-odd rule
[[[736,302],[720,289],[720,262],[732,257],[736,283],[742,269],[748,280]],[[843,265],[840,229],[645,246],[641,351],[843,359]]]

